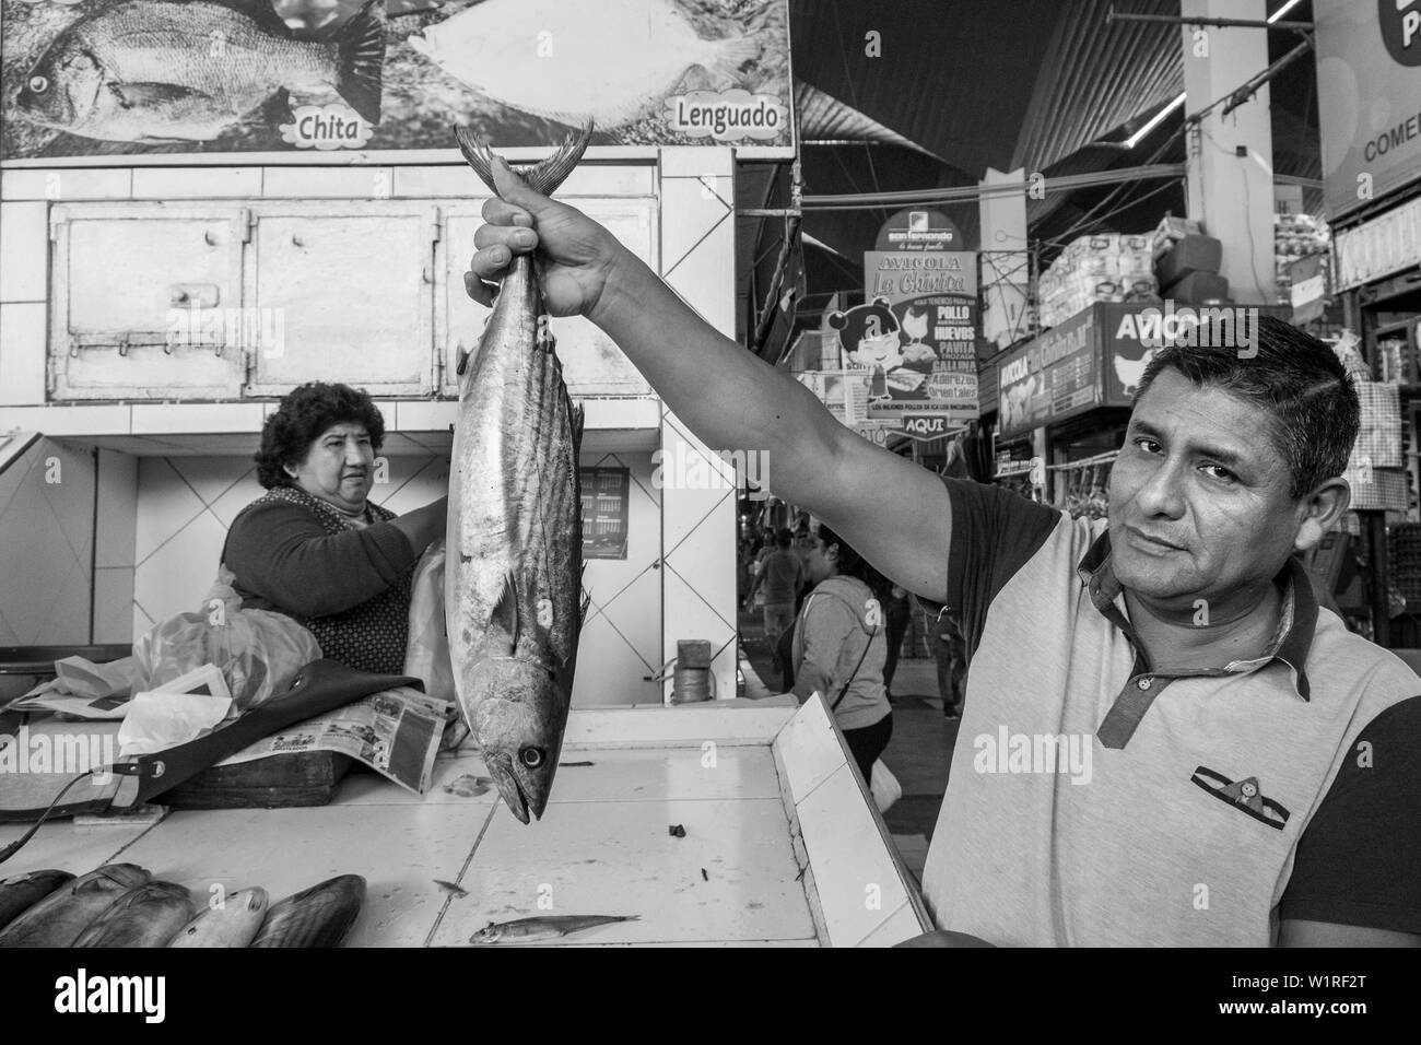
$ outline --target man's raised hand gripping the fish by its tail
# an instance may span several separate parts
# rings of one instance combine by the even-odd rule
[[[477,249],[463,276],[465,291],[492,306],[496,282],[513,254],[539,252],[543,263],[543,304],[553,316],[593,316],[608,283],[631,257],[607,229],[577,208],[549,199],[523,183],[509,165],[493,161],[493,181],[503,199],[483,205],[473,235]]]

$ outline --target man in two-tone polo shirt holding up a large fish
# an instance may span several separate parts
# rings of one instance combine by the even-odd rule
[[[708,445],[772,454],[777,496],[962,623],[939,931],[912,943],[1421,944],[1421,680],[1293,559],[1349,503],[1357,398],[1326,345],[1263,320],[1246,354],[1158,351],[1110,519],[1073,520],[875,448],[600,225],[492,175],[470,297],[536,250],[549,313],[601,327]]]

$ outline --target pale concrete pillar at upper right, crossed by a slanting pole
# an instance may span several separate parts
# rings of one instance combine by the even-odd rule
[[[1263,21],[1265,0],[1181,0],[1185,18]],[[1184,26],[1185,112],[1226,98],[1268,68],[1268,31]],[[1276,300],[1273,272],[1273,132],[1269,88],[1221,117],[1215,108],[1188,139],[1189,218],[1223,242],[1222,276],[1239,304]],[[1239,151],[1243,155],[1238,155]]]

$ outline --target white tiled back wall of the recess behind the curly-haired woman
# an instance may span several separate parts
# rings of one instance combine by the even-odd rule
[[[445,458],[388,461],[389,482],[375,485],[375,503],[402,515],[448,492]],[[250,458],[139,458],[136,463],[134,637],[155,621],[203,604],[217,576],[227,527],[237,512],[264,493]],[[583,463],[624,465],[632,483],[627,560],[591,560],[584,573],[593,606],[583,630],[573,702],[659,702],[658,688],[641,681],[661,667],[661,574],[655,567],[661,518],[651,455],[584,454]]]

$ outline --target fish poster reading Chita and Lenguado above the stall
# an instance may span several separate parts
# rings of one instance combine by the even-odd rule
[[[544,146],[588,118],[594,146],[794,155],[786,0],[0,0],[0,36],[11,166],[338,162],[452,124]]]

